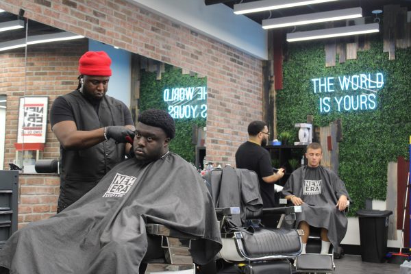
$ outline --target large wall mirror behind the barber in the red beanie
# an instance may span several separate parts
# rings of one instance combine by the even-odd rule
[[[18,18],[16,14],[0,13],[0,23]],[[0,142],[5,142],[4,152],[0,151],[4,158],[1,167],[8,169],[10,162],[21,166],[24,173],[35,173],[37,160],[58,159],[60,145],[49,121],[51,105],[56,97],[77,88],[79,58],[86,51],[105,51],[112,59],[107,95],[129,106],[134,121],[141,110],[167,110],[176,123],[176,136],[170,150],[203,168],[207,116],[205,77],[20,18],[26,27],[8,34],[0,32],[0,58],[5,64],[4,72],[0,72],[3,79],[0,96],[5,99],[0,97],[0,102],[7,100],[5,119],[8,121],[5,131],[0,133],[5,136],[3,142],[0,136]],[[51,38],[58,40],[51,42]],[[1,49],[6,43],[11,47],[22,41],[23,47]],[[26,41],[27,48],[24,47]]]

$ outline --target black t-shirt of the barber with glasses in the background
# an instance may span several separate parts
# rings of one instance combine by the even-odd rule
[[[271,166],[269,151],[260,145],[247,141],[238,147],[236,152],[236,166],[238,169],[249,169],[257,173],[264,208],[274,207],[274,185],[262,180],[262,177],[273,175],[273,166]]]

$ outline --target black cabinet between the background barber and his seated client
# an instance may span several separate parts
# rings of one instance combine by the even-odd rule
[[[306,145],[268,145],[265,147],[271,154],[271,164],[273,167],[286,170],[284,177],[275,184],[284,186],[292,171],[301,166],[301,160],[303,160],[303,164],[306,164],[306,158],[303,158],[303,155],[306,153],[306,147]]]

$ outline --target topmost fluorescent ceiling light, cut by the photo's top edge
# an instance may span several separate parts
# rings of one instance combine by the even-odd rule
[[[262,0],[234,5],[235,14],[251,12],[263,12],[264,10],[277,10],[282,8],[297,7],[299,5],[311,5],[339,0]]]

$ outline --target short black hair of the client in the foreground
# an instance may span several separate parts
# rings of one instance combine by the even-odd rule
[[[137,121],[151,127],[160,127],[170,139],[175,136],[174,120],[165,110],[145,110],[138,115]]]

